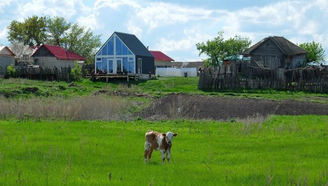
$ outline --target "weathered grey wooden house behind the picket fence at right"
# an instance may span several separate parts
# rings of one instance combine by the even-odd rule
[[[266,37],[243,54],[251,57],[251,66],[255,67],[292,69],[306,62],[304,49],[279,36]]]

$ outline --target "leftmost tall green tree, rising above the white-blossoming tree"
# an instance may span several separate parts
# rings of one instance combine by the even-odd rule
[[[7,27],[8,40],[22,42],[25,45],[40,45],[46,39],[45,17],[33,15],[24,22],[12,21]]]

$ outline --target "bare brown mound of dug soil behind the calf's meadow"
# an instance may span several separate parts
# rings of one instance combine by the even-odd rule
[[[218,98],[187,94],[170,94],[155,100],[147,109],[135,116],[154,119],[196,118],[230,119],[269,114],[327,115],[328,105],[260,99]]]

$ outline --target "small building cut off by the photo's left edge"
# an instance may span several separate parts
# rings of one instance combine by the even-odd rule
[[[15,57],[8,46],[0,46],[0,74],[6,73],[7,66],[15,65]]]

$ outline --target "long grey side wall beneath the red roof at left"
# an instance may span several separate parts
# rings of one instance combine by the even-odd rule
[[[75,60],[59,60],[56,57],[34,57],[34,65],[41,67],[74,67]]]

